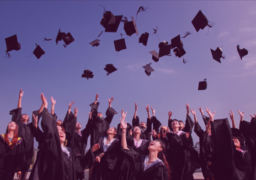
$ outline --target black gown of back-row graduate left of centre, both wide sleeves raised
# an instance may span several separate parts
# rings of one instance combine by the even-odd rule
[[[96,104],[91,103],[91,111],[93,113],[91,114],[91,120],[88,123],[91,123],[91,147],[94,144],[98,143],[98,137],[106,137],[107,136],[107,129],[109,129],[109,125],[112,122],[112,119],[117,112],[113,109],[108,107],[106,111],[106,118],[99,118],[97,117],[98,113],[98,107],[100,103],[97,102]],[[88,124],[87,123],[87,124]]]

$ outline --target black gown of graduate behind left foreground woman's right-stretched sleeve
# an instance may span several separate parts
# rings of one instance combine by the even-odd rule
[[[67,139],[67,145],[66,147],[69,147],[76,153],[81,154],[82,156],[85,155],[85,149],[87,146],[87,139],[90,135],[90,128],[91,124],[87,123],[85,129],[81,130],[82,136],[78,134],[78,132],[75,130],[77,122],[77,117],[74,116],[72,112],[67,112],[64,121],[63,126],[66,131],[66,139]],[[76,173],[77,179],[85,179],[85,173]]]

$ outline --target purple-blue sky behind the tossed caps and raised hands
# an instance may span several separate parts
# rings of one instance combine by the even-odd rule
[[[192,32],[182,39],[187,63],[176,58],[173,51],[172,57],[161,57],[159,64],[155,63],[149,51],[159,51],[156,35],[150,36],[148,45],[143,46],[139,36],[133,34],[125,40],[127,49],[117,54],[113,41],[120,39],[120,33],[125,34],[123,23],[117,33],[103,32],[100,46],[92,47],[89,43],[104,30],[100,24],[103,8],[99,5],[105,5],[114,15],[128,17],[128,21],[131,16],[136,17],[139,6],[149,7],[137,16],[139,36],[145,31],[152,34],[158,26],[160,41],[171,44],[173,37]],[[108,98],[114,97],[112,107],[118,114],[111,126],[115,127],[122,108],[128,111],[126,120],[131,123],[134,103],[139,104],[138,116],[144,121],[147,104],[156,109],[156,117],[167,125],[170,110],[172,118],[185,120],[185,105],[189,103],[202,127],[203,119],[197,109],[200,106],[205,113],[205,107],[216,111],[216,119],[229,118],[229,111],[233,110],[239,127],[237,109],[245,111],[247,121],[251,119],[249,114],[256,113],[255,9],[256,1],[0,1],[0,132],[4,134],[11,121],[9,111],[17,107],[20,88],[24,91],[22,113],[31,116],[41,106],[40,93],[44,93],[49,109],[50,97],[57,99],[55,113],[63,120],[69,102],[74,100],[73,108],[79,108],[78,122],[83,128],[96,93],[100,94],[102,113],[107,110]],[[191,21],[199,10],[215,23],[213,28],[196,32]],[[75,39],[66,48],[63,41],[58,45],[55,40],[43,41],[44,37],[57,36],[59,28]],[[15,34],[21,50],[11,51],[11,58],[5,58],[5,38]],[[28,57],[36,43],[46,52],[39,60],[34,55]],[[243,61],[237,44],[249,50]],[[222,46],[226,56],[221,64],[212,59],[210,51],[218,46]],[[148,77],[142,66],[149,62],[155,72]],[[109,63],[118,70],[106,77],[103,68]],[[81,78],[85,67],[93,72],[93,79]],[[208,87],[198,91],[198,82],[204,78]],[[199,141],[195,133],[192,137],[194,143]]]

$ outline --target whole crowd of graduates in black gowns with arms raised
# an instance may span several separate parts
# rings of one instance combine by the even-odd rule
[[[10,111],[11,123],[0,135],[0,180],[12,180],[15,173],[19,179],[26,179],[34,138],[39,151],[29,180],[82,180],[86,169],[90,180],[193,180],[199,168],[206,180],[256,180],[256,114],[247,122],[243,120],[244,112],[238,111],[241,118],[236,129],[232,111],[230,128],[228,118],[214,119],[215,112],[206,108],[207,117],[200,107],[204,131],[188,103],[185,123],[172,119],[170,111],[167,126],[155,117],[152,107],[151,116],[149,105],[145,107],[146,122],[140,121],[135,103],[131,124],[122,109],[115,128],[110,125],[117,114],[112,108],[114,98],[108,99],[103,118],[96,94],[86,127],[81,130],[79,109],[75,107],[71,112],[74,102],[69,103],[64,121],[58,120],[54,113],[56,100],[51,97],[49,112],[42,93],[42,106],[32,112],[29,123],[29,116],[21,113],[22,96],[21,89],[18,107]],[[38,126],[41,117],[42,129]],[[199,137],[200,153],[193,148],[193,128]],[[89,136],[90,149],[86,152]]]

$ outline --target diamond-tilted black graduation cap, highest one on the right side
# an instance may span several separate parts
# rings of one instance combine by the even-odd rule
[[[200,29],[204,29],[206,26],[208,27],[212,27],[212,25],[209,24],[208,19],[206,18],[205,15],[203,15],[202,11],[199,10],[199,12],[197,13],[197,15],[194,17],[194,19],[192,20],[192,25],[194,26],[194,28],[196,29],[196,31],[198,32]]]

